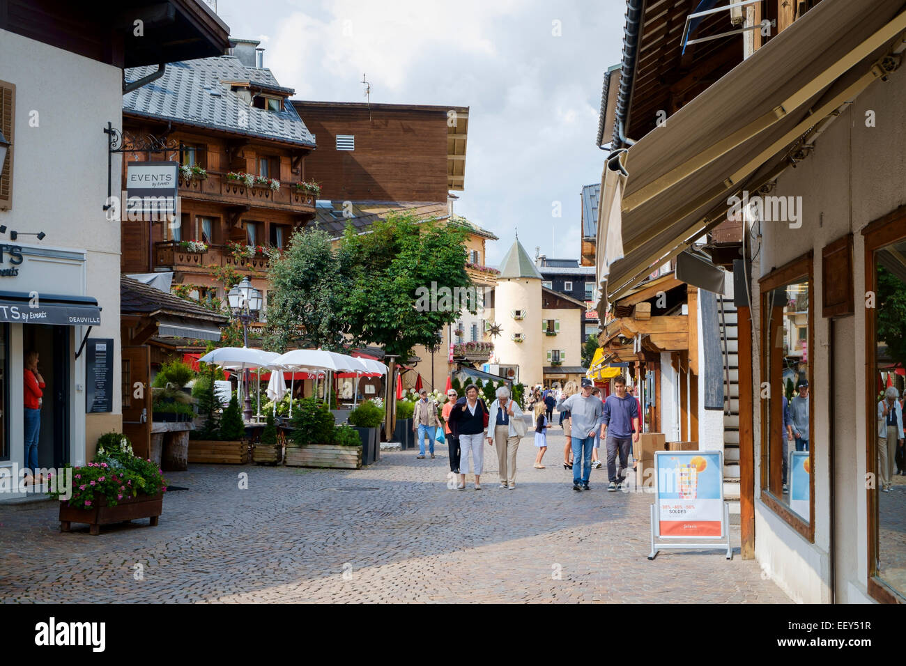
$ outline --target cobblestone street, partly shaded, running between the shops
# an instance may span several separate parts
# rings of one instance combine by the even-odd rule
[[[651,496],[571,488],[564,438],[546,469],[523,440],[515,490],[447,487],[434,460],[381,454],[355,471],[192,466],[169,473],[147,520],[61,534],[55,507],[0,507],[0,599],[31,602],[783,603],[754,561],[719,551],[649,552]],[[248,473],[248,489],[238,475]],[[732,527],[738,545],[738,527]],[[142,580],[134,577],[141,565]],[[559,574],[559,575],[558,575]]]

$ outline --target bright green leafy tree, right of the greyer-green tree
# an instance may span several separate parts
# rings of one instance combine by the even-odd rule
[[[359,235],[347,227],[337,255],[345,280],[342,320],[352,342],[379,344],[404,359],[417,345],[436,347],[443,327],[460,312],[456,299],[447,304],[443,294],[461,296],[471,286],[466,230],[400,214],[370,231]],[[436,307],[426,307],[432,287],[439,298]],[[460,304],[476,311],[475,303]]]

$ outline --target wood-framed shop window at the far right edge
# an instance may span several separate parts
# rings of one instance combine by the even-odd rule
[[[866,338],[869,369],[868,472],[869,593],[879,601],[906,599],[906,544],[903,542],[903,485],[897,472],[903,458],[903,390],[906,368],[906,237],[903,221],[865,235]],[[886,236],[886,237],[885,237]],[[892,237],[900,236],[899,240]],[[872,284],[873,282],[873,284]]]

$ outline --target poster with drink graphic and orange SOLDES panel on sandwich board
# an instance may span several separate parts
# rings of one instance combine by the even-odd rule
[[[718,451],[656,454],[660,536],[718,538],[723,480]]]

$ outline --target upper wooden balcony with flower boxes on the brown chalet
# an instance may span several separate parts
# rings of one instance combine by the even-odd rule
[[[314,213],[316,196],[296,189],[294,183],[281,182],[274,191],[264,185],[251,188],[241,180],[230,180],[226,174],[207,172],[207,179],[179,179],[179,196],[198,201],[213,201],[236,206],[274,208],[293,213]]]

